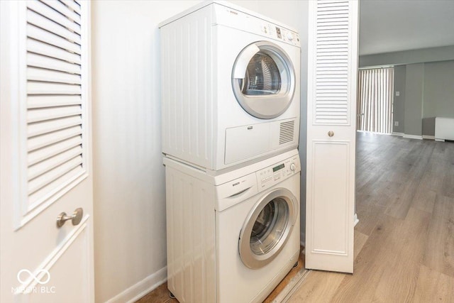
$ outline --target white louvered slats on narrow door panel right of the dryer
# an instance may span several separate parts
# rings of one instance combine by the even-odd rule
[[[317,1],[314,123],[348,124],[348,1]]]

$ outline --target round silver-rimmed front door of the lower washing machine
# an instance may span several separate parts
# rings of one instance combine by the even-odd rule
[[[240,232],[238,250],[248,268],[270,263],[284,248],[297,218],[297,198],[288,189],[275,189],[255,204]]]

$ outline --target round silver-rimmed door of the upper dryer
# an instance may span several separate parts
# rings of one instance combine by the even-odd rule
[[[260,119],[280,116],[294,96],[292,61],[275,43],[252,43],[236,58],[232,87],[238,103],[250,115]]]

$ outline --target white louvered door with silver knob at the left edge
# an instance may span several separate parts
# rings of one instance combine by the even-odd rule
[[[1,302],[94,302],[89,5],[1,1]]]

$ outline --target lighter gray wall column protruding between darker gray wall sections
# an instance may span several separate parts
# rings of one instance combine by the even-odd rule
[[[406,65],[404,133],[422,135],[424,64]]]

